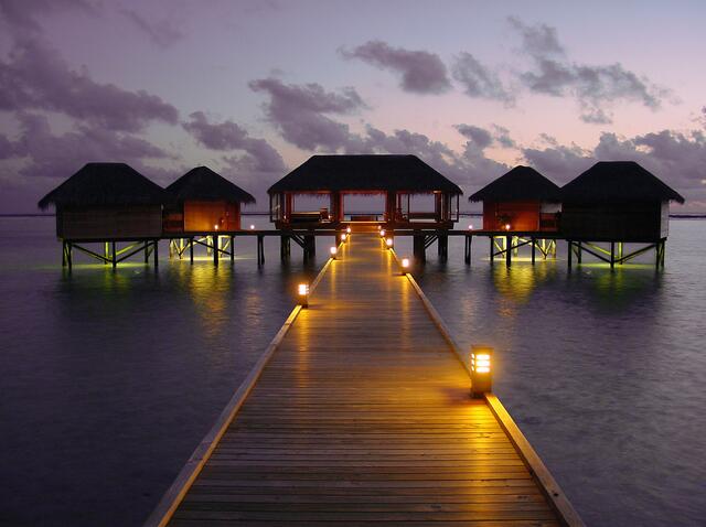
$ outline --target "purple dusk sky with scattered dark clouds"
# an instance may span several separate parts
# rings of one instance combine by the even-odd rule
[[[706,212],[704,2],[488,3],[0,0],[0,213],[88,161],[206,164],[265,209],[315,152],[415,153],[467,195],[635,160]]]

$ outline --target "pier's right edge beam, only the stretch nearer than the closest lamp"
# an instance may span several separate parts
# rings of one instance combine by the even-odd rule
[[[532,444],[522,433],[520,427],[517,427],[500,399],[494,394],[485,394],[485,401],[515,445],[515,450],[527,465],[530,473],[539,483],[542,492],[559,516],[560,521],[569,527],[585,527],[584,521],[566,497],[566,494],[556,480],[554,480],[554,476],[542,461],[542,458],[539,458],[534,448],[532,448]]]

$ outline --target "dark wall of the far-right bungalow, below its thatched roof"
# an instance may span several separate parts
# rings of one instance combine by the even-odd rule
[[[666,238],[668,202],[593,205],[564,203],[561,234],[592,241],[654,241]]]

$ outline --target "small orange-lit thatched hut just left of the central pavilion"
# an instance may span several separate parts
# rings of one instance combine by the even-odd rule
[[[190,170],[165,189],[164,233],[239,230],[240,204],[255,197],[207,166]]]

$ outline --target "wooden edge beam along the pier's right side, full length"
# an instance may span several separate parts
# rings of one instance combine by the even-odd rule
[[[397,264],[399,264],[399,258],[397,257],[397,254],[392,249],[391,249],[391,252],[393,254],[394,258],[397,260]],[[402,269],[402,266],[400,266],[400,269]],[[460,348],[458,347],[458,345],[456,344],[456,341],[451,336],[451,332],[449,331],[446,323],[441,319],[441,315],[436,310],[436,308],[431,304],[431,301],[424,293],[424,291],[421,290],[421,288],[419,287],[415,278],[408,272],[405,273],[405,276],[414,287],[415,291],[417,291],[417,294],[419,295],[419,298],[421,299],[421,302],[424,303],[425,308],[429,312],[431,320],[434,321],[436,326],[439,329],[439,331],[443,335],[443,338],[449,343],[449,346],[451,347],[451,349],[453,349],[456,356],[459,358],[459,361],[461,361],[461,364],[463,364],[463,367],[466,368],[466,370],[470,376],[470,367],[469,367],[467,357],[464,357],[461,354]],[[520,427],[517,427],[517,424],[512,419],[512,417],[510,416],[510,413],[507,412],[503,404],[500,401],[500,399],[494,394],[485,394],[485,401],[488,402],[488,406],[490,407],[491,411],[500,422],[503,430],[505,430],[505,433],[512,441],[513,445],[515,447],[515,450],[517,451],[522,460],[525,462],[527,470],[530,471],[534,480],[537,482],[539,488],[542,490],[545,497],[547,498],[547,502],[554,508],[557,516],[559,516],[559,520],[564,525],[569,527],[585,527],[584,521],[581,520],[580,516],[578,515],[578,513],[576,512],[571,503],[566,497],[566,494],[564,494],[564,491],[561,490],[559,484],[556,482],[556,480],[554,480],[554,476],[552,475],[549,470],[546,467],[546,465],[544,464],[539,455],[532,448],[532,444],[530,444],[530,441],[527,441],[525,435],[522,433],[522,431],[520,430]]]

